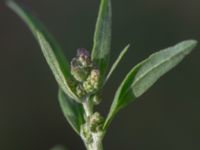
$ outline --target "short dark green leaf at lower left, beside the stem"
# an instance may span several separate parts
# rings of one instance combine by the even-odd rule
[[[82,105],[70,99],[61,89],[58,92],[58,99],[65,118],[76,133],[79,134],[80,126],[84,123]]]

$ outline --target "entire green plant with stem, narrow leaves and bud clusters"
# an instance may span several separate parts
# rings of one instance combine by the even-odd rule
[[[60,46],[28,10],[12,0],[7,5],[27,24],[41,46],[44,57],[59,85],[58,99],[67,121],[88,150],[102,150],[102,140],[116,114],[147,91],[162,75],[179,64],[197,45],[187,40],[152,54],[126,75],[118,87],[107,117],[94,111],[101,92],[123,58],[126,46],[108,71],[111,49],[111,0],[101,0],[93,48],[77,50],[69,63]]]

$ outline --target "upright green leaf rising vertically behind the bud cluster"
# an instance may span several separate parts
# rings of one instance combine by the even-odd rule
[[[111,47],[111,25],[112,10],[110,0],[101,0],[96,29],[94,34],[94,45],[92,49],[92,60],[99,66],[102,80],[108,67]]]

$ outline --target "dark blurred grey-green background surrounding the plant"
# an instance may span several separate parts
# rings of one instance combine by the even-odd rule
[[[19,0],[18,0],[19,2]],[[99,0],[21,0],[70,60],[91,49]],[[128,70],[179,41],[200,41],[199,0],[113,0],[112,59],[132,47],[104,91],[105,115]],[[200,47],[115,118],[106,150],[200,149]],[[84,150],[57,102],[57,84],[24,23],[0,2],[0,150]]]

